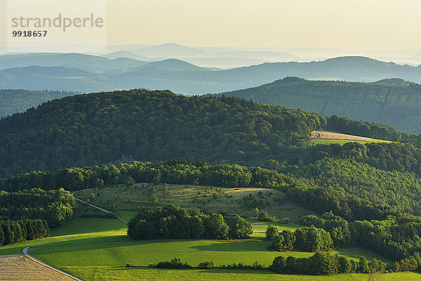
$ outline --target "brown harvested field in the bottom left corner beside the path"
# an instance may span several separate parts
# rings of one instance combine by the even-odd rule
[[[32,256],[0,256],[0,281],[83,281]]]

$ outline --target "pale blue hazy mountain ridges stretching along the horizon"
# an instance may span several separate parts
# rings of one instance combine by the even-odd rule
[[[140,51],[142,55],[168,55],[168,49],[174,51],[174,56],[196,55],[194,57],[196,59],[213,59],[201,57],[204,51],[200,49],[168,44],[140,48],[138,55]],[[117,55],[127,55],[126,52]],[[220,52],[230,51],[222,49]],[[273,54],[262,51],[255,53]],[[365,57],[341,57],[311,63],[262,63],[220,70],[198,67],[178,59],[166,59],[156,63],[156,61],[115,58],[115,56],[114,53],[110,56],[113,59],[109,59],[75,53],[1,55],[0,89],[90,92],[145,88],[169,89],[176,93],[200,95],[246,89],[289,76],[370,82],[397,77],[421,82],[420,66],[397,65]]]

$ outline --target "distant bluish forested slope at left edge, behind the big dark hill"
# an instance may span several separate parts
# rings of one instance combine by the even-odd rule
[[[37,107],[48,100],[76,94],[66,91],[0,90],[0,117],[25,112],[28,108]]]

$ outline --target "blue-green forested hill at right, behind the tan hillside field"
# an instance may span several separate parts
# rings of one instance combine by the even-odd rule
[[[286,77],[271,84],[217,96],[222,95],[300,108],[327,116],[380,122],[399,131],[421,133],[421,85],[401,79],[360,83]]]

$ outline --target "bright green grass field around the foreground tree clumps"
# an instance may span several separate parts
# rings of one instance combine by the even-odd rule
[[[126,215],[131,215],[128,213]],[[269,223],[249,220],[258,237]],[[279,229],[293,230],[296,225],[276,223]],[[97,232],[95,232],[97,231]],[[160,270],[156,268],[126,268],[126,263],[147,266],[149,263],[169,261],[175,257],[196,266],[201,261],[214,261],[217,265],[230,263],[251,264],[254,261],[272,263],[276,256],[307,257],[307,252],[267,251],[269,242],[218,240],[147,240],[133,241],[126,235],[125,225],[111,218],[75,218],[66,226],[51,231],[52,237],[0,248],[0,254],[20,254],[28,244],[41,244],[30,250],[37,258],[51,263],[85,280],[302,280],[299,275],[275,275],[270,272],[250,270]],[[56,242],[53,242],[56,241]],[[342,249],[333,253],[351,259],[381,256],[361,248]],[[235,274],[234,274],[235,273]],[[395,275],[388,275],[392,277]],[[416,280],[418,275],[396,275]],[[345,278],[345,279],[344,279]],[[357,279],[356,279],[357,278]],[[413,279],[410,279],[413,278]],[[342,280],[367,280],[368,275],[344,275]],[[306,276],[305,280],[339,280],[334,277]],[[399,279],[394,279],[399,280]]]

